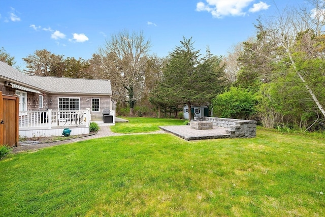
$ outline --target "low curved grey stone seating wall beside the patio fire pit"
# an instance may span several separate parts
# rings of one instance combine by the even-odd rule
[[[195,117],[197,121],[209,121],[213,126],[228,128],[227,133],[232,138],[253,138],[256,136],[255,120],[240,120],[220,117]]]

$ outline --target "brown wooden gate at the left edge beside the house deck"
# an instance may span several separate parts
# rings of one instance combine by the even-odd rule
[[[17,146],[19,140],[19,99],[0,91],[0,144]]]

